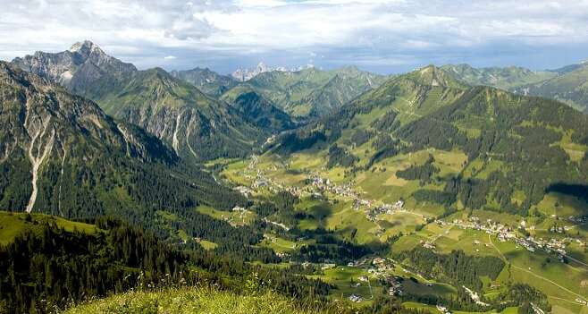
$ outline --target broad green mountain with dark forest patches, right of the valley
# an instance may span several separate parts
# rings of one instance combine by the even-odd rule
[[[397,175],[420,178],[420,189],[441,187],[459,206],[525,215],[550,189],[585,194],[587,140],[588,116],[564,104],[490,87],[469,88],[429,66],[383,83],[336,115],[283,135],[275,149],[290,154],[334,143],[349,151],[365,148],[365,157],[345,165],[354,173],[399,154],[463,152],[466,159],[453,174],[439,175],[433,166]],[[489,167],[496,170],[478,175]],[[433,185],[423,187],[426,183]],[[584,187],[575,191],[575,186]],[[517,202],[512,200],[516,192],[524,195]],[[434,194],[418,193],[435,201]]]

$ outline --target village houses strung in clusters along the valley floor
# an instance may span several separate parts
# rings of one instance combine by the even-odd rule
[[[442,233],[436,235],[428,240],[420,240],[418,245],[424,248],[437,250],[436,240],[441,237],[444,233],[449,233],[450,229],[458,228],[461,230],[469,230],[477,233],[488,234],[490,242],[482,242],[480,240],[474,240],[469,243],[475,248],[475,252],[480,252],[482,248],[491,251],[499,251],[491,239],[497,242],[511,242],[516,245],[516,248],[522,248],[528,253],[533,254],[537,251],[542,251],[549,256],[552,256],[554,260],[558,260],[560,263],[575,263],[580,267],[588,267],[583,260],[575,259],[570,256],[567,252],[567,246],[570,243],[574,243],[575,246],[580,248],[586,247],[586,242],[581,237],[575,237],[569,231],[572,230],[574,225],[584,225],[588,221],[588,216],[550,216],[552,220],[565,222],[567,224],[552,225],[545,232],[553,233],[555,236],[537,236],[533,235],[536,231],[536,226],[531,225],[525,220],[513,224],[513,222],[500,222],[492,220],[491,218],[480,218],[475,215],[468,216],[442,216],[435,217],[432,215],[424,215],[422,212],[417,212],[411,208],[407,208],[406,201],[402,198],[397,199],[394,202],[386,203],[378,199],[369,199],[366,197],[365,192],[357,191],[354,188],[353,180],[348,182],[336,183],[332,179],[322,176],[320,172],[324,170],[322,167],[320,171],[307,171],[302,173],[304,177],[299,180],[302,184],[287,184],[281,180],[276,179],[273,175],[268,175],[266,172],[277,172],[279,167],[277,165],[265,166],[265,168],[259,166],[259,157],[251,157],[248,165],[241,171],[238,172],[239,177],[245,179],[239,181],[241,184],[234,187],[234,190],[239,191],[242,195],[251,198],[256,195],[263,193],[279,193],[289,192],[291,195],[296,196],[299,199],[327,199],[329,202],[337,202],[337,199],[345,200],[350,204],[349,210],[356,213],[362,213],[365,220],[374,223],[378,226],[379,231],[375,235],[382,235],[383,228],[379,225],[380,222],[384,222],[386,219],[390,219],[391,215],[409,215],[417,216],[421,221],[422,225],[419,228],[423,228],[425,225],[437,225],[442,230]],[[288,168],[289,165],[282,164],[284,168]],[[301,174],[298,174],[301,175]],[[243,184],[248,182],[248,184]],[[248,212],[246,208],[234,208],[234,211],[245,215]],[[268,224],[273,224],[284,231],[289,231],[291,225],[285,225],[279,222],[272,221],[264,218]],[[415,233],[416,230],[410,232]],[[545,234],[545,233],[543,233]],[[269,242],[279,241],[278,237],[266,234],[266,240]],[[301,241],[303,239],[298,239]],[[291,249],[300,248],[305,245],[305,242],[294,243]],[[278,251],[278,256],[283,259],[289,257],[288,251]],[[303,262],[302,267],[310,267],[311,263]],[[349,287],[346,289],[347,295],[342,295],[346,300],[352,302],[363,302],[369,301],[374,297],[373,289],[377,285],[379,289],[385,287],[386,293],[390,295],[400,296],[405,291],[405,285],[407,281],[410,281],[410,289],[415,289],[415,286],[420,286],[420,289],[425,287],[432,287],[434,281],[427,279],[423,274],[419,274],[417,271],[403,265],[402,262],[396,261],[386,257],[373,256],[370,258],[359,259],[349,262],[347,265],[336,265],[335,263],[324,263],[318,265],[321,272],[348,272],[350,269],[357,269],[353,271],[354,276],[349,276]],[[361,289],[369,288],[368,290]],[[496,284],[496,287],[500,287],[500,284]],[[468,287],[463,287],[467,292],[470,293],[472,301],[483,305],[480,296]],[[357,291],[357,292],[354,292]],[[362,291],[363,293],[360,293]],[[368,293],[369,292],[369,293]],[[575,302],[579,304],[588,304],[584,298],[576,298]],[[436,310],[441,313],[449,313],[447,307],[442,304],[438,304]]]

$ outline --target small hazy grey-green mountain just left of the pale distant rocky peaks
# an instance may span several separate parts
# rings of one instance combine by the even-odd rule
[[[218,98],[229,89],[237,85],[237,81],[231,76],[221,75],[210,71],[208,68],[194,68],[186,71],[172,71],[173,77],[187,81],[202,90],[206,95]]]

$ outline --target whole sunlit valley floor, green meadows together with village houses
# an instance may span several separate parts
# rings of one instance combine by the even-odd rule
[[[588,300],[585,284],[588,267],[584,262],[588,255],[583,244],[587,233],[585,221],[576,218],[582,215],[581,207],[570,201],[553,212],[552,208],[557,206],[553,206],[555,201],[551,199],[559,196],[548,195],[537,207],[547,216],[542,221],[483,210],[471,214],[468,210],[458,210],[438,218],[443,213],[441,206],[411,197],[418,182],[395,175],[396,170],[419,162],[428,154],[438,160],[442,172],[457,173],[463,165],[463,154],[457,151],[430,150],[413,153],[411,157],[386,159],[374,165],[375,172],[349,175],[349,169],[326,168],[323,156],[305,152],[287,159],[263,155],[245,161],[223,161],[226,166],[221,176],[249,197],[270,197],[281,191],[297,195],[300,201],[295,210],[306,217],[295,225],[284,225],[285,231],[287,228],[325,228],[347,241],[358,243],[385,242],[401,234],[392,245],[395,252],[424,246],[444,254],[464,250],[470,256],[496,257],[505,261],[507,267],[496,280],[484,280],[484,297],[491,299],[509,283],[520,282],[545,293],[554,313],[588,313],[588,307],[583,305]],[[430,189],[438,187],[433,183]],[[279,215],[265,219],[275,224],[281,221]],[[517,232],[525,223],[533,238],[528,238],[528,233],[525,236]],[[559,229],[553,229],[553,225]],[[350,235],[351,228],[357,231]],[[266,241],[261,244],[287,256],[312,242],[313,239],[289,242],[277,234],[266,234]],[[562,248],[565,253],[560,253],[564,252]],[[566,263],[562,262],[564,258]],[[374,296],[382,294],[384,286],[378,281],[385,276],[417,278],[416,282],[405,280],[403,289],[408,293],[429,291],[455,295],[455,287],[411,272],[410,266],[400,261],[391,263],[391,267],[374,267],[371,262],[359,266],[358,262],[336,267],[316,265],[329,269],[323,269],[322,275],[315,277],[337,286],[332,292],[333,299],[347,301],[357,295],[361,297],[360,304],[369,304]],[[359,278],[371,278],[372,286]],[[437,312],[434,308],[429,310]]]

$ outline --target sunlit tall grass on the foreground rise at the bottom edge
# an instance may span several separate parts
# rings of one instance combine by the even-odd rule
[[[65,310],[67,314],[95,313],[320,313],[304,310],[277,293],[237,295],[210,288],[178,288],[164,292],[129,292]]]

